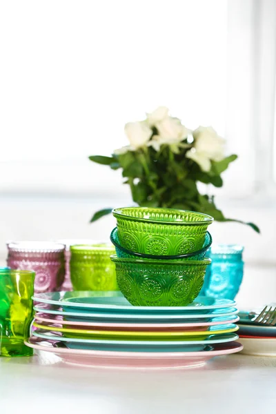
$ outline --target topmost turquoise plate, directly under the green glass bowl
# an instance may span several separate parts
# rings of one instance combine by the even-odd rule
[[[131,313],[157,315],[162,313],[209,313],[219,308],[235,306],[235,301],[230,299],[215,299],[213,297],[197,297],[189,306],[132,306],[121,292],[53,292],[39,293],[33,296],[35,302],[56,305],[70,311],[77,308],[78,311],[94,311],[97,313]]]

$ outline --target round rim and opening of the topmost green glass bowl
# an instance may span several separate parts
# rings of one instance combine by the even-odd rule
[[[124,214],[124,210],[157,210],[157,211],[165,211],[170,210],[171,213],[175,214],[183,214],[183,213],[191,213],[192,215],[200,215],[202,217],[202,220],[199,221],[168,221],[168,220],[155,220],[155,219],[146,219],[145,217],[133,217],[127,214]],[[214,221],[214,218],[208,214],[205,213],[199,213],[197,211],[191,211],[191,210],[178,210],[177,208],[161,208],[161,207],[118,207],[113,208],[112,215],[116,218],[122,218],[132,221],[141,221],[144,223],[155,223],[155,224],[171,224],[172,226],[201,226],[203,224],[211,224]]]

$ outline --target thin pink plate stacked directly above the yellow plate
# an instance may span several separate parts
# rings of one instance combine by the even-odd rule
[[[64,321],[61,315],[46,315],[45,313],[36,313],[34,315],[38,322],[45,322],[47,324],[68,325],[68,327],[76,328],[76,326],[88,326],[89,328],[101,328],[103,331],[109,331],[113,328],[114,331],[204,331],[205,326],[235,324],[239,321],[239,317],[235,316],[233,319],[222,320],[219,322],[190,322],[188,324],[124,324],[119,322],[114,324],[111,322],[72,322]]]

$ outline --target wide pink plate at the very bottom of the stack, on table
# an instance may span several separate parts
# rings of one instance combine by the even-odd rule
[[[198,352],[118,352],[55,348],[55,342],[31,337],[25,344],[39,351],[55,353],[63,362],[80,366],[104,368],[190,368],[201,366],[213,357],[242,351],[239,342],[217,344],[211,351]]]

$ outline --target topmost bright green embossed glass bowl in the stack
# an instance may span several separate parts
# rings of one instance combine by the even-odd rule
[[[185,255],[201,250],[213,217],[171,208],[115,208],[119,244],[146,255]]]

